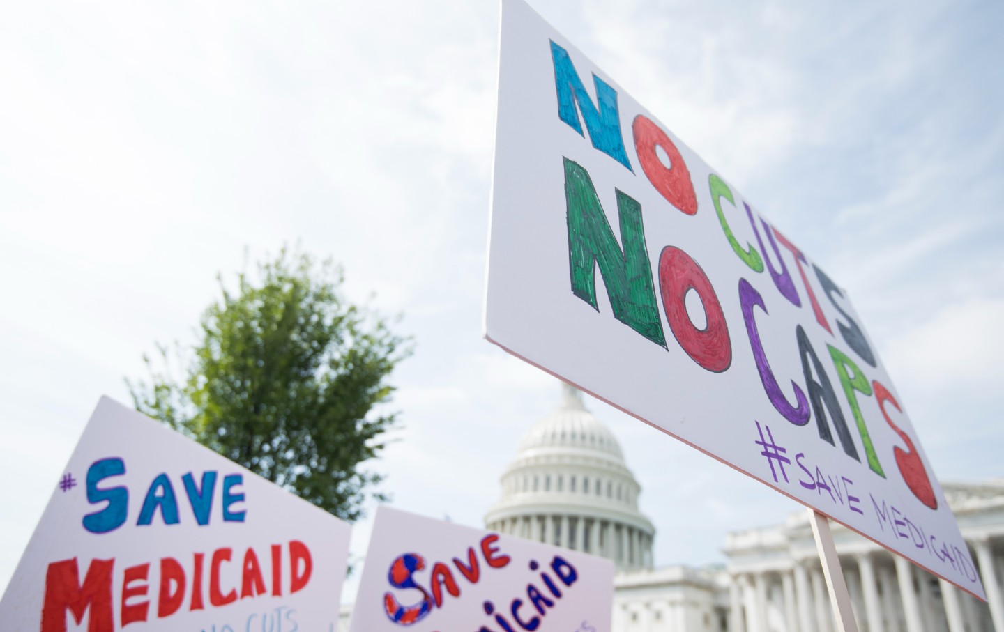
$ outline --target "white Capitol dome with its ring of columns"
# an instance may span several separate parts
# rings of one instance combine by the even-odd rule
[[[608,558],[618,571],[653,568],[642,488],[574,386],[562,384],[560,403],[523,436],[501,483],[488,529]]]

